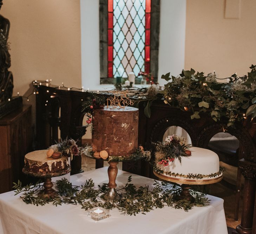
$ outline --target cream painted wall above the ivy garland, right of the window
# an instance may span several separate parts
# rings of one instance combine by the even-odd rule
[[[225,0],[187,0],[185,69],[247,74],[256,63],[255,9],[255,0],[241,0],[240,19],[224,19]]]

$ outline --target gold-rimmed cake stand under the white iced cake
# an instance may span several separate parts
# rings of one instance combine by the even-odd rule
[[[177,178],[174,176],[166,176],[163,174],[159,174],[156,171],[153,171],[153,173],[160,179],[166,180],[173,183],[182,183],[181,188],[182,192],[179,195],[179,199],[186,199],[188,201],[191,200],[192,195],[189,192],[189,189],[191,189],[191,185],[209,185],[212,183],[217,183],[222,180],[223,175],[219,175],[215,178],[209,178],[209,179],[183,179],[183,178]]]

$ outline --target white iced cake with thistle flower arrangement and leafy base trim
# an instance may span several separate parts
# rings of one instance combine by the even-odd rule
[[[158,174],[191,180],[222,176],[224,168],[219,166],[218,155],[209,149],[192,147],[183,136],[169,135],[163,143],[154,145],[156,153],[153,170]]]

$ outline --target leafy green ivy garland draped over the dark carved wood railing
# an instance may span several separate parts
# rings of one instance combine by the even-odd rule
[[[216,74],[204,75],[203,72],[182,71],[175,77],[170,73],[162,75],[162,79],[168,81],[165,89],[161,91],[164,102],[170,106],[179,107],[184,111],[191,109],[191,119],[199,119],[200,112],[210,111],[213,120],[218,121],[222,117],[228,118],[228,127],[233,126],[236,120],[241,121],[252,114],[256,116],[256,66],[251,65],[248,75],[238,77],[233,74],[228,83],[217,82]],[[171,82],[170,82],[171,81]],[[194,110],[194,108],[198,110]]]

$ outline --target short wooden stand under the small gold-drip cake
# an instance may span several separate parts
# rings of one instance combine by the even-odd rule
[[[68,171],[65,172],[55,172],[55,173],[48,173],[45,175],[42,175],[40,173],[33,173],[33,172],[28,172],[26,171],[25,168],[22,169],[22,172],[26,175],[30,175],[30,176],[34,176],[34,177],[38,177],[38,178],[44,178],[45,182],[44,182],[44,189],[41,190],[38,193],[38,196],[42,196],[43,198],[50,198],[50,197],[55,197],[58,196],[57,191],[55,191],[52,187],[53,187],[53,183],[52,183],[52,177],[57,177],[57,176],[61,176],[61,175],[66,175],[67,173],[69,173],[71,171],[71,167],[68,169]]]

